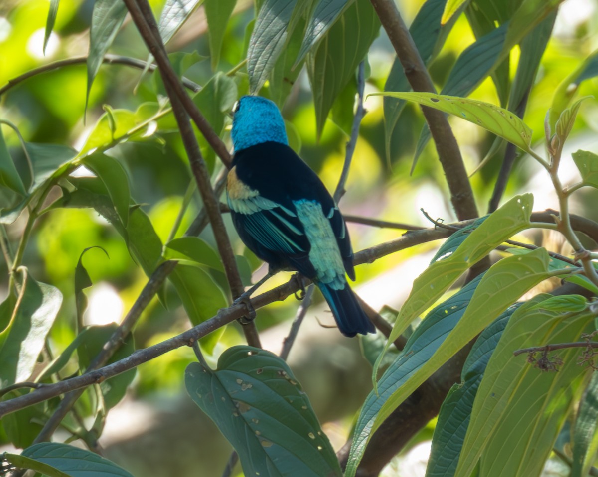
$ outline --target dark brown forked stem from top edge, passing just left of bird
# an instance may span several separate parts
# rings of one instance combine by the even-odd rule
[[[228,280],[228,285],[233,293],[233,298],[236,298],[243,293],[243,283],[239,275],[239,270],[237,269],[237,263],[234,258],[233,249],[230,245],[230,240],[228,239],[226,228],[224,227],[224,221],[222,221],[222,216],[220,215],[218,198],[210,184],[208,167],[203,160],[202,152],[199,149],[199,144],[197,143],[187,114],[191,114],[194,118],[197,127],[202,130],[206,140],[208,140],[216,154],[220,155],[221,159],[225,162],[225,165],[227,164],[226,161],[228,158],[227,167],[230,167],[230,156],[228,155],[224,143],[222,143],[216,133],[213,132],[208,122],[203,118],[199,110],[197,110],[193,101],[191,101],[191,98],[185,93],[178,77],[176,77],[175,71],[172,69],[172,65],[170,65],[166,50],[164,49],[160,33],[158,32],[154,14],[152,13],[147,0],[124,0],[124,2],[135,26],[139,30],[139,33],[141,33],[141,36],[148,47],[149,53],[154,56],[158,68],[160,69],[164,87],[166,87],[166,92],[170,97],[172,111],[175,114],[185,151],[189,158],[191,170],[197,181],[199,191],[202,194],[204,207],[208,213],[213,234],[216,237],[216,245],[218,246],[218,252],[222,259],[222,264],[224,265],[224,272]],[[189,106],[189,104],[191,106]],[[185,111],[185,109],[187,109],[187,111]],[[197,122],[198,120],[200,123]],[[203,121],[203,123],[201,121]],[[217,140],[214,139],[214,136]],[[219,151],[219,149],[222,148],[224,148],[224,155],[222,155],[222,151]],[[243,332],[250,345],[261,347],[257,328],[255,328],[253,322],[244,325]]]

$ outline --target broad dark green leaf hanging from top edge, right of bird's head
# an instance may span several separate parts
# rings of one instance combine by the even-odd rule
[[[356,0],[340,16],[316,50],[307,56],[318,136],[328,112],[378,36],[380,20],[368,0]],[[330,54],[334,51],[334,54]]]

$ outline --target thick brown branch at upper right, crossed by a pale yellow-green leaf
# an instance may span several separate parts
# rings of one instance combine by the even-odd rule
[[[395,48],[405,77],[414,91],[436,93],[436,88],[405,26],[394,0],[370,0],[374,10]],[[459,145],[443,112],[422,106],[422,112],[436,145],[438,158],[449,185],[451,203],[459,220],[478,216],[474,194],[469,184]]]

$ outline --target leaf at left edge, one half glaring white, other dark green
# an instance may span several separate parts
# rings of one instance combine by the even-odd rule
[[[5,387],[27,380],[44,348],[62,304],[62,293],[54,286],[36,282],[23,271],[22,298],[13,311],[10,326],[4,331],[7,338],[0,350],[0,380]]]

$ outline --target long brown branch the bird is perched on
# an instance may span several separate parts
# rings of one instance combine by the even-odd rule
[[[355,265],[371,263],[378,258],[389,255],[390,253],[398,252],[399,250],[404,250],[408,247],[428,241],[443,239],[449,235],[449,231],[434,229],[409,232],[399,239],[379,244],[371,249],[361,250],[361,252],[355,254],[353,263]],[[298,281],[294,277],[291,277],[287,283],[279,285],[270,291],[256,296],[251,300],[251,305],[257,309],[264,307],[274,301],[282,301],[289,295],[297,292],[299,288],[300,286]],[[28,395],[15,397],[14,399],[0,402],[0,418],[6,414],[10,414],[11,412],[15,412],[27,406],[32,406],[38,402],[50,399],[51,397],[59,396],[75,389],[81,389],[83,387],[90,386],[91,384],[101,383],[108,378],[121,374],[125,371],[129,371],[129,369],[133,369],[142,363],[148,362],[157,356],[167,353],[168,351],[172,351],[182,346],[193,345],[193,342],[199,338],[208,335],[212,331],[215,331],[227,323],[233,322],[234,320],[245,316],[247,313],[248,309],[244,303],[223,308],[218,312],[218,314],[216,314],[216,316],[213,316],[205,322],[200,323],[194,328],[188,329],[187,331],[176,335],[175,337],[161,341],[161,343],[152,345],[148,348],[136,350],[126,358],[104,366],[103,368],[97,369],[96,371],[86,372],[81,376],[60,381],[59,383],[48,384],[47,386],[35,390]]]

